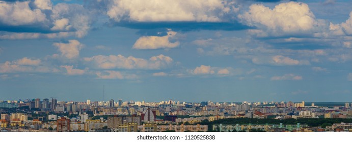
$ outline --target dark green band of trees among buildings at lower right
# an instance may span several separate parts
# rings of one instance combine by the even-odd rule
[[[343,119],[343,118],[303,118],[303,119],[256,119],[256,118],[228,118],[228,119],[219,119],[212,122],[207,120],[202,121],[200,124],[208,125],[208,129],[212,129],[213,124],[280,124],[288,125],[292,124],[295,125],[297,123],[300,124],[307,124],[311,127],[326,127],[331,126],[334,123],[352,123],[352,119]]]

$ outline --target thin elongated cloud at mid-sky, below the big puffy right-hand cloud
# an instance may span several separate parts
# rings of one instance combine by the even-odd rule
[[[255,64],[271,64],[271,65],[308,65],[307,60],[295,60],[282,55],[270,57],[254,57],[252,62]]]

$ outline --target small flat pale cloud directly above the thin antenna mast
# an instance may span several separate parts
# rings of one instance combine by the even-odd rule
[[[103,72],[97,72],[96,75],[98,76],[98,79],[127,79],[127,80],[134,80],[138,79],[137,75],[124,75],[121,72],[114,71],[114,70],[105,70]]]

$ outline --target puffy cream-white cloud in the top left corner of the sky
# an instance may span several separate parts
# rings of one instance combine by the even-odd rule
[[[0,2],[0,23],[7,25],[29,25],[46,21],[40,9],[32,10],[30,2]]]

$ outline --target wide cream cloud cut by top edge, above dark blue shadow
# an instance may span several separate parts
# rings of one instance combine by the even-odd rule
[[[107,8],[107,15],[116,22],[121,20],[138,22],[156,21],[198,21],[219,22],[221,16],[238,9],[234,2],[221,0],[196,1],[113,1]],[[226,6],[227,5],[227,6]]]

